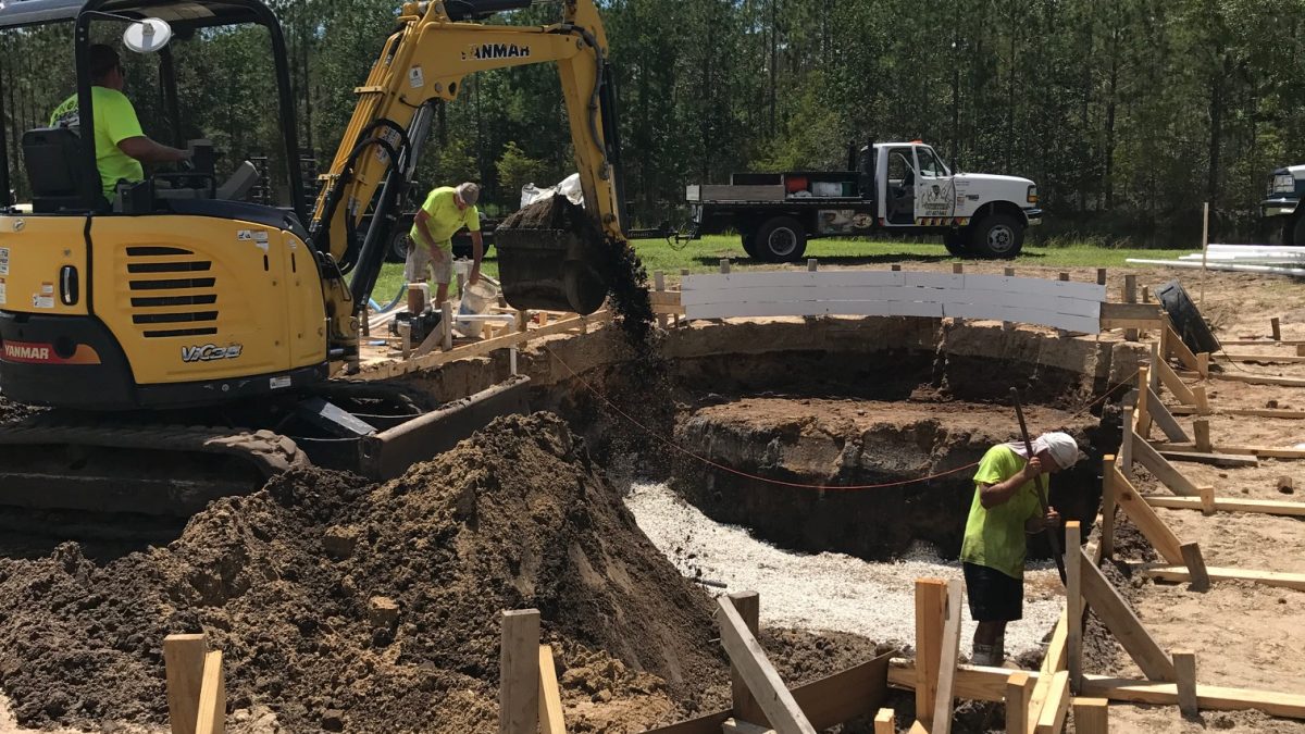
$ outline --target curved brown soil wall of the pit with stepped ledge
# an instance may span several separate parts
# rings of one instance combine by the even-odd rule
[[[1120,439],[1113,409],[1092,404],[1146,357],[1111,338],[936,319],[698,323],[658,346],[660,364],[636,362],[619,333],[603,329],[549,340],[523,353],[519,368],[534,383],[532,407],[565,417],[609,473],[668,479],[711,517],[786,547],[868,559],[914,541],[958,551],[974,471],[947,473],[1017,436],[1011,387],[1030,405],[1032,431],[1065,430],[1088,449],[1051,496],[1066,517],[1090,522],[1100,499],[1094,447]],[[506,359],[495,358],[450,364],[415,387],[452,398],[506,375]],[[732,418],[757,398],[808,405]],[[671,447],[672,436],[697,456]],[[812,488],[936,474],[855,492]],[[1032,543],[1035,556],[1044,542]]]

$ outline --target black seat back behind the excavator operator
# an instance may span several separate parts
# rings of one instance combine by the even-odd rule
[[[86,193],[81,182],[82,171],[81,136],[70,128],[38,128],[22,135],[22,161],[31,182],[31,210],[37,214],[59,212],[85,212],[102,208],[87,206]],[[93,171],[99,180],[99,172]]]

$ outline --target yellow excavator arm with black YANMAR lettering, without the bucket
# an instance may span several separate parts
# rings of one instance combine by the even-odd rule
[[[312,218],[326,285],[330,346],[356,350],[358,319],[376,283],[384,243],[429,131],[433,106],[457,99],[475,72],[556,63],[585,193],[603,238],[624,242],[607,37],[594,0],[565,0],[547,26],[466,22],[531,0],[407,3],[363,86]],[[371,208],[372,226],[358,244]],[[351,282],[346,274],[354,270]],[[508,283],[505,283],[505,287]]]

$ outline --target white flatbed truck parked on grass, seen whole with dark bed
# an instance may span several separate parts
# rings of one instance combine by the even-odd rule
[[[733,174],[689,185],[689,239],[736,231],[749,256],[791,263],[806,240],[877,232],[942,235],[958,256],[1014,257],[1041,223],[1037,185],[1018,176],[953,174],[923,142],[877,142],[847,171]]]

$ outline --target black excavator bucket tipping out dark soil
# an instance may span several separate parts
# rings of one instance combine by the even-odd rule
[[[538,201],[495,230],[499,279],[513,308],[592,313],[611,287],[611,247],[564,196]]]

